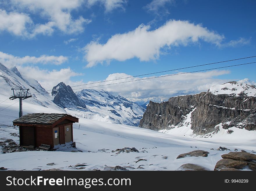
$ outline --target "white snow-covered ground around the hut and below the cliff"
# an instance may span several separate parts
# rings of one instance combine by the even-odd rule
[[[2,117],[1,121],[3,121]],[[17,142],[18,138],[13,136],[15,134],[11,135],[10,133],[18,134],[18,128],[1,125],[0,139],[9,138]],[[248,140],[247,137],[244,137],[244,142],[241,143],[238,143],[236,139],[231,140],[221,139],[217,141],[211,138],[177,137],[128,125],[81,118],[79,123],[74,124],[74,141],[77,149],[67,148],[63,145],[54,152],[27,151],[0,154],[0,162],[1,166],[8,168],[8,170],[45,170],[50,168],[77,170],[76,168],[69,168],[70,165],[74,167],[77,164],[87,165],[81,170],[107,170],[106,166],[115,167],[116,165],[135,168],[129,168],[129,170],[176,170],[185,163],[198,164],[213,170],[216,162],[221,159],[221,155],[230,151],[211,150],[211,148],[216,149],[222,146],[230,150],[234,150],[234,148],[248,152],[252,149],[256,150],[255,139]],[[111,152],[125,147],[135,147],[140,152],[120,154]],[[70,150],[82,150],[83,152],[67,152]],[[193,150],[205,150],[209,152],[209,155],[208,157],[176,159],[179,154]],[[167,159],[162,157],[167,157]],[[145,159],[146,161],[136,163],[138,159]],[[47,163],[55,163],[55,165],[49,166]],[[140,168],[137,169],[139,166]]]

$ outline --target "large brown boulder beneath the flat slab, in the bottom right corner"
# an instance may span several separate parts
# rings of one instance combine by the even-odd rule
[[[222,168],[243,169],[246,166],[247,166],[247,162],[245,161],[236,161],[233,159],[221,159],[216,163],[214,170],[221,170]]]

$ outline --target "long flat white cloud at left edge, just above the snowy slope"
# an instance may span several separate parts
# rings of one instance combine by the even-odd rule
[[[67,57],[64,56],[48,56],[41,55],[40,57],[34,56],[24,56],[17,57],[12,54],[6,54],[0,51],[0,62],[3,63],[8,68],[12,68],[13,66],[23,65],[23,64],[55,64],[60,65],[68,60]]]

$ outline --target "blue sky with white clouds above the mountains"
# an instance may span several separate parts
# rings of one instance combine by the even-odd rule
[[[255,56],[255,8],[256,1],[0,0],[0,62],[50,90],[60,81],[75,86]],[[168,98],[230,80],[255,83],[255,68],[100,88],[125,97]]]

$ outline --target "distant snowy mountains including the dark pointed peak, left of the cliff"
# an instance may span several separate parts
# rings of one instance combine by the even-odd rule
[[[104,90],[83,89],[74,93],[63,82],[52,90],[53,102],[77,117],[115,124],[138,126],[145,109]]]

